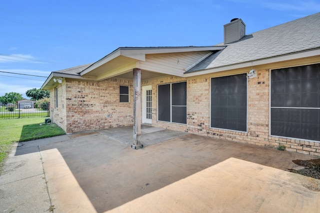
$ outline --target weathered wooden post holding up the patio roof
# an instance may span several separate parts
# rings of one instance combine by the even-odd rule
[[[133,149],[141,149],[141,70],[133,69]]]

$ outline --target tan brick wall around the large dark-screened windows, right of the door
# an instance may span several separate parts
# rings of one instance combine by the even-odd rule
[[[192,134],[220,138],[265,147],[285,146],[287,151],[320,156],[320,143],[269,136],[269,69],[257,71],[248,79],[247,132],[210,128],[210,77],[187,78],[187,124],[157,121],[157,104],[152,102],[152,126],[185,131]],[[152,84],[152,100],[156,100],[156,85],[185,80],[170,77],[157,79]]]

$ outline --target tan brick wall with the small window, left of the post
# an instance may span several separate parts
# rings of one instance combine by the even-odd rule
[[[64,82],[60,85],[64,88],[64,92],[59,93],[61,103],[53,110],[53,122],[66,133],[133,124],[132,81],[112,78],[99,82],[70,79]],[[129,103],[119,103],[120,85],[129,86]],[[54,106],[54,90],[50,91],[50,97]],[[64,120],[60,119],[63,115]]]

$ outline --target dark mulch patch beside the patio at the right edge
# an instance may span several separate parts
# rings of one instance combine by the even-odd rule
[[[293,163],[304,167],[304,169],[294,170],[290,169],[290,172],[304,175],[307,177],[315,178],[320,180],[320,159],[311,159],[311,160],[293,160]]]

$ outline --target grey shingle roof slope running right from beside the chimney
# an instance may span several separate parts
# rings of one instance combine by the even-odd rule
[[[223,50],[209,55],[185,73],[320,47],[320,12],[245,35],[225,45]]]

